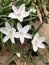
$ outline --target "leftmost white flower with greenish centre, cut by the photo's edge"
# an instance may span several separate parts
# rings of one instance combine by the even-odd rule
[[[16,37],[16,30],[11,28],[9,23],[6,22],[5,27],[0,28],[0,32],[6,35],[3,39],[3,42],[6,42],[8,39],[10,39],[12,43],[15,43],[14,37]]]

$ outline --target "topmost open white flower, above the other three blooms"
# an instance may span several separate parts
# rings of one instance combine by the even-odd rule
[[[29,15],[29,11],[25,11],[25,4],[22,4],[19,9],[17,9],[16,6],[12,6],[13,13],[10,13],[8,17],[18,19],[20,22],[23,21],[23,18],[27,17]]]

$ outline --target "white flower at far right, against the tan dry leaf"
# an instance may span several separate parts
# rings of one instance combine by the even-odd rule
[[[42,43],[45,41],[45,37],[39,37],[39,34],[36,33],[34,39],[31,41],[33,45],[33,50],[36,52],[38,48],[45,48],[45,45]]]

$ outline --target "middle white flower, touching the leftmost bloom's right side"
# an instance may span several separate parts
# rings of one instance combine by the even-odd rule
[[[22,28],[20,23],[17,23],[17,29],[19,32],[16,32],[17,36],[20,38],[20,42],[24,43],[24,38],[31,39],[32,35],[27,33],[30,29],[30,25],[26,25]]]

